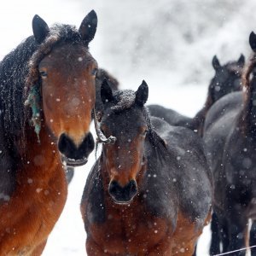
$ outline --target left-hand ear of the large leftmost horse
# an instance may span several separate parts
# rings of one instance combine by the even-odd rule
[[[37,43],[41,44],[49,33],[49,26],[38,15],[34,15],[32,20],[32,29]]]

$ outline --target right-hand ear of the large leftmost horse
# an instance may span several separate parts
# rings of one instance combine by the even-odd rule
[[[96,12],[94,10],[91,10],[90,13],[84,17],[84,20],[79,27],[81,37],[86,44],[89,44],[90,41],[94,38],[97,23],[98,19]]]

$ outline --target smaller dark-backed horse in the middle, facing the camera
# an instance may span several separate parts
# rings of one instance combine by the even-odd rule
[[[150,117],[145,81],[102,83],[100,132],[115,138],[87,178],[81,213],[87,255],[192,255],[211,217],[212,176],[201,137]]]

